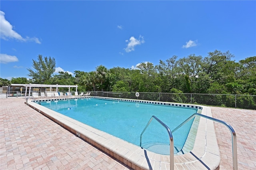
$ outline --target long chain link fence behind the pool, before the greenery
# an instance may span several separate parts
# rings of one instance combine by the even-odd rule
[[[190,103],[198,105],[232,107],[256,110],[256,95],[223,95],[223,94],[193,94],[193,93],[144,93],[140,92],[108,92],[92,91],[91,96],[114,97],[124,99],[139,99],[163,101],[172,103]]]

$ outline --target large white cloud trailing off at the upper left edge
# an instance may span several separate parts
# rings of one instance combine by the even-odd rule
[[[12,29],[12,25],[10,22],[8,22],[5,17],[5,13],[0,11],[0,37],[4,40],[9,40],[9,39],[16,39],[20,40],[23,42],[36,42],[36,43],[41,43],[38,38],[33,37],[26,37],[23,38],[20,34],[18,34],[16,31]]]

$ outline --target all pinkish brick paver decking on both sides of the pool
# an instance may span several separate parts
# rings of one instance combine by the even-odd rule
[[[0,99],[0,169],[130,169],[24,104]],[[238,169],[256,169],[256,111],[210,107],[237,135]],[[220,169],[232,169],[231,134],[214,123]]]

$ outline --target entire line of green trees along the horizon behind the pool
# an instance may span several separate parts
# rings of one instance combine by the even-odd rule
[[[103,65],[90,72],[74,71],[54,75],[55,59],[38,55],[33,59],[33,69],[28,76],[0,78],[0,85],[10,83],[40,83],[59,85],[78,85],[78,91],[118,91],[118,92],[156,92],[156,93],[201,93],[256,95],[256,56],[232,60],[229,51],[215,50],[206,57],[191,54],[178,59],[174,55],[158,65],[140,63],[136,69]]]

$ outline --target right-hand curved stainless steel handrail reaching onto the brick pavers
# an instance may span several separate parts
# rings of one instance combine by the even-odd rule
[[[172,133],[175,132],[178,128],[180,128],[182,125],[184,125],[185,123],[187,123],[188,121],[190,121],[191,119],[193,119],[196,116],[200,116],[200,117],[204,117],[206,119],[210,119],[212,121],[216,121],[218,123],[222,123],[223,125],[225,125],[226,127],[228,127],[228,129],[230,130],[231,134],[232,134],[232,154],[233,154],[233,170],[237,170],[237,146],[236,146],[236,132],[234,131],[234,129],[226,122],[221,121],[219,119],[215,119],[213,117],[208,117],[206,115],[201,115],[199,113],[195,113],[192,116],[190,116],[186,121],[184,121],[183,123],[181,123],[178,127],[174,128],[174,130],[172,130]]]

